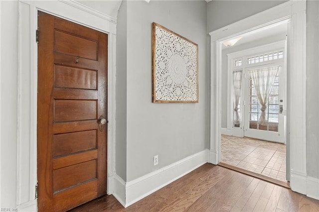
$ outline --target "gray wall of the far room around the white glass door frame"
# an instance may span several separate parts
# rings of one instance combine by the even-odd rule
[[[271,29],[270,29],[271,30]],[[228,84],[228,57],[227,54],[233,53],[233,52],[238,52],[242,51],[245,49],[250,49],[254,48],[257,46],[262,46],[270,43],[274,43],[277,41],[285,40],[286,39],[286,33],[282,34],[276,34],[270,37],[266,37],[263,39],[259,40],[254,40],[249,43],[244,43],[241,45],[234,45],[233,47],[230,48],[225,48],[222,50],[222,82],[221,82],[221,96],[222,97],[227,97],[227,84]],[[222,98],[221,100],[221,127],[222,128],[227,128],[227,98]],[[230,102],[229,104],[232,104]]]

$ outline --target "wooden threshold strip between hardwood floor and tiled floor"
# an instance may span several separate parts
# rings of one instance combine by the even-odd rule
[[[274,178],[267,177],[267,176],[264,176],[264,175],[261,175],[261,174],[257,174],[255,172],[247,171],[245,169],[241,169],[241,168],[238,168],[236,166],[232,166],[232,165],[229,165],[229,164],[226,164],[226,163],[223,163],[223,162],[219,162],[218,165],[222,166],[222,167],[225,167],[227,169],[234,170],[236,172],[243,173],[245,175],[249,175],[249,176],[258,178],[258,179],[263,180],[263,181],[267,181],[269,183],[276,184],[278,186],[282,186],[282,187],[287,188],[287,189],[291,189],[290,188],[290,183],[288,181],[287,182],[283,182],[283,181],[280,181],[280,180],[276,180]]]

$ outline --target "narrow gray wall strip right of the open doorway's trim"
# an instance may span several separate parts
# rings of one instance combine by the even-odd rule
[[[307,174],[319,178],[319,1],[307,1]]]

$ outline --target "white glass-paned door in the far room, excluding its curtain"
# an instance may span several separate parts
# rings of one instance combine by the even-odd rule
[[[269,99],[266,103],[265,124],[258,121],[261,114],[261,104],[258,100],[256,88],[250,75],[251,70],[278,66],[279,70],[273,83]],[[283,63],[272,63],[264,66],[245,68],[244,83],[244,136],[262,140],[285,143],[285,115],[282,107],[285,99],[286,76]]]

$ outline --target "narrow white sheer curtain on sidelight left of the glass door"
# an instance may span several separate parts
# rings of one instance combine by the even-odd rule
[[[233,72],[233,103],[234,103],[234,124],[240,123],[240,117],[238,112],[238,106],[240,101],[240,93],[241,93],[241,76],[243,71],[234,71]]]

